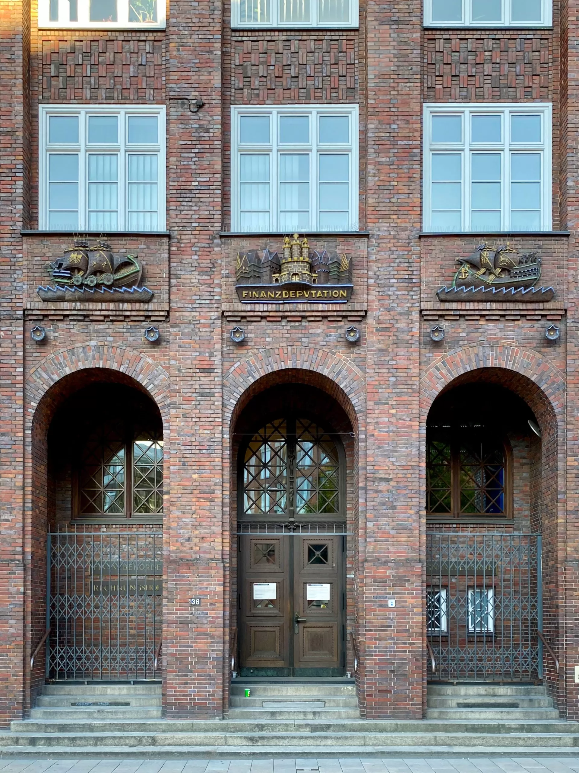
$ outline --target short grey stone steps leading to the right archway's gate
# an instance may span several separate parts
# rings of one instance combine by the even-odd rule
[[[428,720],[558,720],[543,686],[429,684]]]

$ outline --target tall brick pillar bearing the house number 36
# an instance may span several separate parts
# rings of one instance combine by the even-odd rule
[[[168,717],[222,714],[221,26],[216,0],[168,22],[171,492],[165,505]],[[190,110],[196,99],[204,107]],[[190,598],[201,598],[192,606]]]

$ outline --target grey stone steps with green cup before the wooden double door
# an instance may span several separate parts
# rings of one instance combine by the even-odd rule
[[[245,697],[245,690],[250,690]],[[316,682],[236,679],[231,686],[229,719],[340,720],[359,719],[353,679]]]

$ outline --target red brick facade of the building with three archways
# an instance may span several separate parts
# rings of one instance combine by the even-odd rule
[[[443,390],[483,382],[524,400],[542,430],[540,444],[511,439],[515,519],[493,529],[543,535],[543,630],[561,663],[557,677],[545,659],[545,680],[561,712],[579,718],[576,17],[565,2],[551,29],[423,29],[418,0],[398,0],[361,2],[359,29],[232,30],[229,4],[174,0],[165,31],[83,32],[38,29],[36,3],[2,5],[2,727],[29,710],[44,679],[42,653],[32,673],[29,662],[46,627],[46,533],[58,509],[49,427],[76,390],[102,382],[147,393],[163,421],[167,717],[227,713],[232,438],[254,398],[288,384],[323,393],[348,435],[347,627],[363,716],[423,716],[425,534],[467,526],[427,523],[426,421]],[[547,303],[435,295],[452,282],[456,255],[482,239],[421,233],[422,105],[477,101],[553,104],[554,231],[488,234],[540,252],[541,284],[556,291]],[[39,104],[56,103],[167,107],[168,233],[107,234],[115,253],[139,255],[148,304],[36,294],[74,236],[38,232]],[[313,249],[353,258],[354,293],[346,305],[242,304],[237,254],[279,249],[282,237],[230,231],[230,108],[316,103],[360,106],[360,233],[308,234]],[[553,324],[557,342],[545,338]],[[35,325],[46,329],[41,343]],[[149,325],[160,331],[154,344],[143,337]],[[240,346],[229,337],[236,325]],[[344,338],[350,325],[361,331],[356,344]],[[442,342],[430,337],[434,325]],[[191,597],[201,612],[191,613]],[[348,670],[352,662],[348,649]]]

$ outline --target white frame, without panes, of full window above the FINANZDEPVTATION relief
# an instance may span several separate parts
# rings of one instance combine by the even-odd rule
[[[271,116],[271,144],[270,145],[239,145],[239,117],[241,115],[264,115]],[[310,114],[310,143],[307,145],[283,145],[279,147],[277,143],[277,132],[279,127],[280,115],[303,115]],[[327,145],[320,146],[317,143],[318,117],[320,115],[347,114],[350,118],[350,142],[347,145]],[[239,156],[242,152],[248,153],[269,153],[269,190],[270,190],[270,221],[269,228],[259,233],[277,233],[282,229],[279,227],[279,204],[278,188],[279,174],[278,163],[279,151],[283,152],[304,152],[310,154],[310,159],[317,161],[317,155],[320,152],[336,154],[347,152],[350,155],[350,220],[343,229],[332,233],[344,233],[358,230],[359,222],[359,203],[358,203],[358,105],[357,104],[299,104],[299,105],[234,105],[231,111],[232,121],[232,230],[241,231],[239,216],[240,192],[239,192]],[[314,140],[315,135],[315,140]],[[318,173],[317,163],[311,163],[312,169],[310,177],[310,227],[308,233],[327,230],[320,229],[318,226],[319,215],[318,206]],[[251,233],[251,232],[244,232]]]

